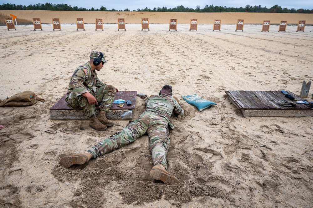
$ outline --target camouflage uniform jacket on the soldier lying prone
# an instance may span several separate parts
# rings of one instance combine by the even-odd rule
[[[177,100],[172,95],[161,94],[153,95],[146,100],[146,111],[158,114],[167,120],[167,123],[172,129],[174,125],[171,119],[172,113],[175,115],[184,115],[185,112],[182,107],[178,104]]]

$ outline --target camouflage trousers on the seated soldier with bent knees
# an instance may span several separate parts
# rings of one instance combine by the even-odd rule
[[[99,110],[104,110],[105,112],[110,110],[116,93],[116,89],[112,85],[107,84],[103,87],[97,88],[94,93],[88,88],[87,90],[95,97],[95,99],[97,99],[98,104],[100,104],[98,106]],[[85,114],[87,114],[89,118],[96,114],[95,105],[90,105],[86,97],[83,95],[76,96],[74,92],[69,94],[67,105],[73,110],[84,109]]]

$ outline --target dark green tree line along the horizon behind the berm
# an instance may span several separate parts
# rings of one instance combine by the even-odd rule
[[[92,7],[91,9],[86,8],[78,8],[77,6],[71,6],[68,4],[52,4],[52,3],[38,3],[33,5],[15,5],[15,4],[2,4],[0,5],[0,10],[51,10],[51,11],[109,11],[109,12],[130,12],[129,9],[124,10],[116,10],[116,9],[107,9],[104,6],[95,9]],[[247,4],[244,8],[234,8],[234,7],[221,7],[221,6],[211,6],[205,5],[204,8],[200,8],[200,6],[196,6],[195,9],[184,7],[182,5],[174,7],[174,8],[166,8],[166,7],[154,7],[153,9],[148,9],[147,7],[144,9],[138,8],[137,10],[132,10],[132,12],[255,12],[255,13],[307,13],[312,14],[313,9],[295,9],[295,8],[282,8],[281,6],[278,6],[277,4],[275,6],[272,6],[271,8],[262,7],[259,6],[250,6]]]

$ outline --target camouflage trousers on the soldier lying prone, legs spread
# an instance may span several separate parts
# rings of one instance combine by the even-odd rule
[[[88,151],[92,153],[94,158],[100,157],[135,141],[146,133],[150,138],[153,164],[162,164],[167,168],[166,156],[170,145],[167,120],[149,111],[144,112],[138,119],[129,122],[120,132],[101,141]]]

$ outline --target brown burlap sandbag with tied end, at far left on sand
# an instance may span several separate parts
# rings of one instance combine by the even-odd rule
[[[0,107],[4,106],[29,106],[37,103],[38,101],[44,102],[43,98],[37,98],[37,95],[32,91],[24,91],[0,100]]]

